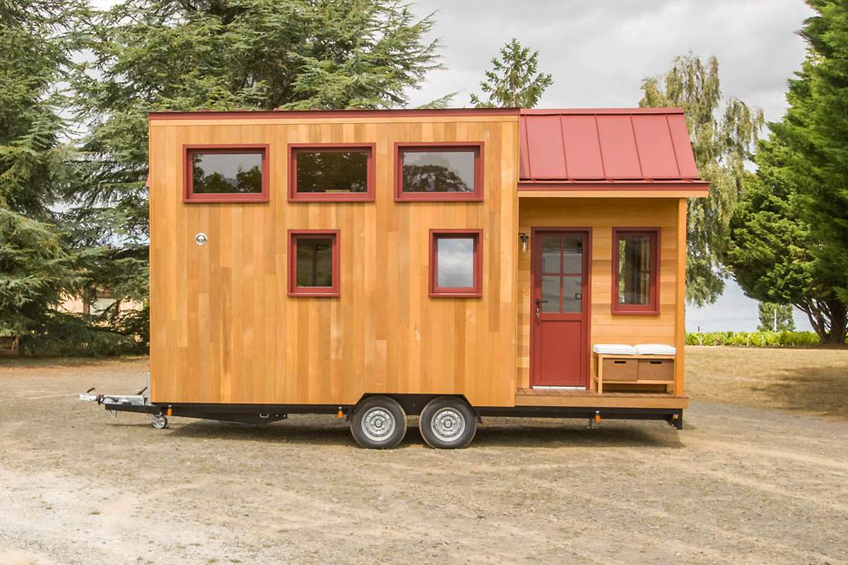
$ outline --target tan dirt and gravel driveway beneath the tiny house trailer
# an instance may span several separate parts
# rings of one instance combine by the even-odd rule
[[[488,418],[466,450],[343,422],[109,417],[147,361],[0,367],[0,563],[848,563],[848,423],[693,402]]]

